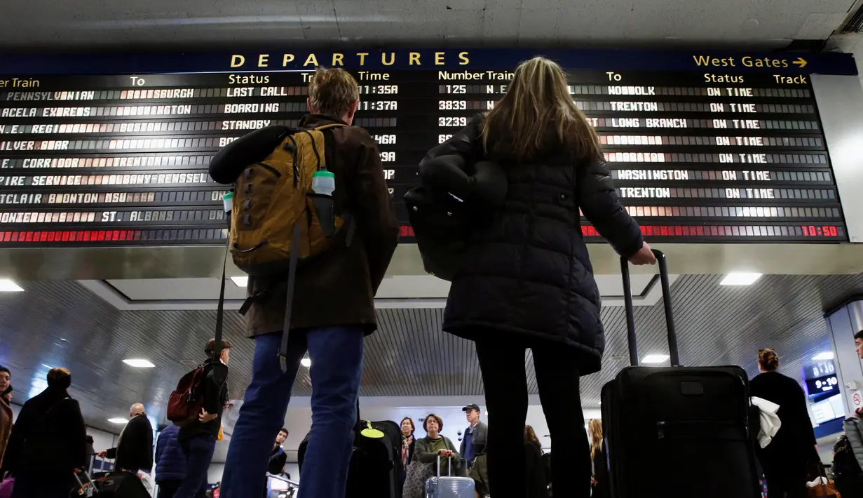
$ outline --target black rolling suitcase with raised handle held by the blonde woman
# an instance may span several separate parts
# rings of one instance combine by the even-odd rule
[[[621,258],[629,359],[602,388],[613,498],[760,498],[740,367],[681,367],[665,255],[659,262],[670,368],[639,367],[629,263]],[[734,326],[734,324],[729,324]]]

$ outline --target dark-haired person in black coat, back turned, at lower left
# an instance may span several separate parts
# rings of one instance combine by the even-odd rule
[[[51,369],[48,387],[24,403],[6,448],[4,466],[15,474],[13,498],[66,498],[76,469],[85,468],[87,432],[78,401],[66,389],[67,369]]]

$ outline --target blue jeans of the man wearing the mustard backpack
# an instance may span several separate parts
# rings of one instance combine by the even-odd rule
[[[362,376],[362,327],[321,327],[291,332],[287,373],[279,366],[281,333],[255,337],[252,381],[230,436],[221,498],[264,494],[273,442],[285,423],[299,361],[309,352],[312,367],[312,432],[298,498],[343,498],[348,478],[356,397]]]

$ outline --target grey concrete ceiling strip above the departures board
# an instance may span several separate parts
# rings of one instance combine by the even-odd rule
[[[826,40],[855,0],[30,0],[0,6],[5,49],[249,45],[717,45]]]

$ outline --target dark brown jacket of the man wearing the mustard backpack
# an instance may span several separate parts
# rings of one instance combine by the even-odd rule
[[[299,126],[332,123],[344,124],[337,117],[312,114],[300,120]],[[243,169],[266,159],[287,131],[284,126],[269,126],[231,142],[210,162],[211,178],[233,183]],[[337,235],[330,249],[298,269],[291,328],[361,325],[371,333],[377,329],[375,293],[398,245],[399,224],[381,154],[369,132],[350,126],[324,129],[323,133],[325,161],[336,175],[336,211],[349,212],[356,219],[356,235],[350,246],[344,243],[344,233]],[[249,295],[264,293],[246,313],[249,337],[284,328],[284,281],[249,278]]]

